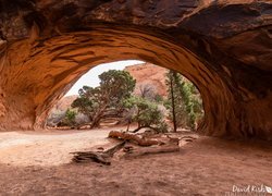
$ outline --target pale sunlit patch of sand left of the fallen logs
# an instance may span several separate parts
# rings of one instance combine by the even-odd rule
[[[71,162],[72,151],[109,143],[110,130],[0,133],[0,163],[60,166]]]

